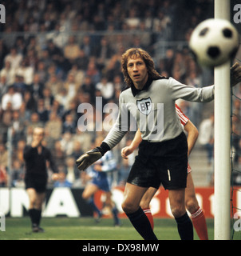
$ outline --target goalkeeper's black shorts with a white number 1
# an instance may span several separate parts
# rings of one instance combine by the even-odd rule
[[[142,141],[127,182],[136,186],[165,190],[187,186],[188,142],[186,135],[165,142]]]

